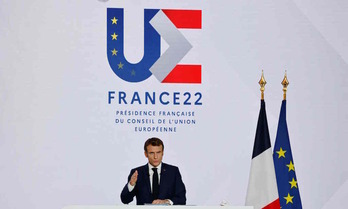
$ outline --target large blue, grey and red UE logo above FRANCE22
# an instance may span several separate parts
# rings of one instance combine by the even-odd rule
[[[178,64],[192,45],[178,28],[201,29],[201,10],[144,10],[144,56],[130,63],[124,56],[124,10],[107,9],[107,55],[114,73],[128,82],[154,75],[161,83],[201,83],[201,65]],[[168,49],[161,55],[161,37]]]

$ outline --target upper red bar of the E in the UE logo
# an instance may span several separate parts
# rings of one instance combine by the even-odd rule
[[[177,28],[202,28],[202,10],[163,9],[162,11]]]

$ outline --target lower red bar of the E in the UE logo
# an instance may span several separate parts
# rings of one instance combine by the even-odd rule
[[[202,83],[202,66],[176,65],[162,83]]]

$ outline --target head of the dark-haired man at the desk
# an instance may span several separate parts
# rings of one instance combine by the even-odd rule
[[[146,140],[144,144],[144,154],[154,167],[157,167],[162,162],[163,150],[164,144],[162,140],[156,137]]]

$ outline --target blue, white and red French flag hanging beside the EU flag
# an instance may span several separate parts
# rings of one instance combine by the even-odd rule
[[[265,106],[261,100],[245,205],[254,209],[280,209]]]

